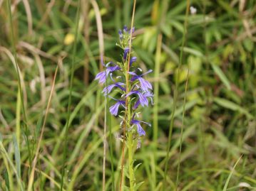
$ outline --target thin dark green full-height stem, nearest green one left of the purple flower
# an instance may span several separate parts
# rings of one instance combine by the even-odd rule
[[[78,21],[79,21],[79,14],[80,14],[80,0],[78,1],[78,9],[76,11],[76,31],[75,31],[75,40],[73,43],[73,53],[72,53],[72,64],[71,64],[71,80],[69,85],[69,95],[68,95],[68,116],[66,120],[66,131],[64,137],[64,151],[63,151],[63,159],[62,159],[62,167],[61,167],[61,191],[63,190],[63,181],[65,175],[65,163],[66,163],[66,155],[67,155],[67,147],[68,147],[68,129],[70,126],[70,116],[71,116],[71,101],[72,101],[72,92],[73,92],[73,75],[74,75],[74,65],[75,65],[75,58],[76,58],[76,41],[78,36]]]

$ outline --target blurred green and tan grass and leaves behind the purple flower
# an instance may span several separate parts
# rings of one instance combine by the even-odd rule
[[[10,15],[8,1],[0,1],[0,190],[29,189],[36,155],[34,190],[59,190],[63,162],[65,190],[102,190],[104,99],[102,87],[93,81],[100,65],[99,13],[91,2],[11,1]],[[105,60],[120,60],[118,29],[130,26],[133,2],[94,4],[102,18]],[[190,1],[197,12],[185,19],[187,4],[168,0],[136,4],[133,54],[143,70],[154,70],[148,80],[155,88],[155,104],[142,109],[142,119],[153,126],[145,127],[146,136],[135,152],[135,164],[142,163],[136,181],[144,182],[139,190],[161,190],[165,175],[165,190],[256,190],[256,2]],[[119,122],[108,120],[106,190],[118,190],[120,182]],[[170,160],[165,173],[168,137]]]

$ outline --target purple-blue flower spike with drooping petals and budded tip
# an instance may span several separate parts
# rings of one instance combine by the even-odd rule
[[[125,118],[126,99],[129,100],[128,105],[130,106],[130,119],[127,119],[127,123],[130,124],[130,128],[127,131],[134,130],[138,133],[138,136],[145,136],[145,130],[141,124],[147,124],[145,121],[138,121],[135,116],[138,116],[138,109],[140,107],[148,107],[148,104],[153,104],[153,87],[145,80],[143,77],[153,70],[148,70],[148,72],[142,72],[140,68],[136,68],[133,63],[136,62],[136,57],[130,57],[129,67],[128,67],[128,55],[130,53],[129,43],[130,43],[130,32],[133,33],[135,29],[128,30],[125,26],[123,31],[119,31],[118,46],[123,49],[122,62],[108,62],[106,65],[102,63],[106,70],[99,72],[96,75],[95,80],[98,80],[100,84],[106,83],[108,77],[111,80],[111,84],[103,89],[104,96],[110,97],[114,104],[109,108],[109,111],[113,116],[120,116],[121,119]],[[128,68],[130,69],[128,71]],[[126,85],[126,75],[128,75],[128,86]],[[126,91],[128,87],[129,91]],[[116,97],[111,97],[110,94],[113,91],[117,91]],[[150,102],[149,102],[150,101]],[[123,123],[123,121],[121,122]]]

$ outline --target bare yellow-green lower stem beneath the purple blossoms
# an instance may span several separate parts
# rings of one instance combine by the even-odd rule
[[[133,172],[133,132],[128,132],[128,162],[129,162],[129,180],[130,180],[130,191],[134,191],[134,172]]]

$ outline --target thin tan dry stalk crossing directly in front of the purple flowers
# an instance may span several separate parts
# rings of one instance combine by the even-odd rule
[[[133,38],[133,22],[134,22],[134,14],[135,14],[135,6],[136,6],[136,0],[133,1],[133,16],[132,16],[132,20],[130,23],[130,42],[129,42],[129,52],[128,52],[128,62],[126,63],[126,94],[128,94],[128,92],[130,92],[130,84],[129,84],[129,71],[130,71],[130,52],[131,52],[131,42],[132,42],[132,38]],[[130,123],[130,118],[128,118],[129,116],[129,112],[130,109],[128,107],[128,103],[129,103],[130,97],[126,97],[126,111],[125,111],[125,119],[123,121],[123,147],[122,147],[122,165],[121,165],[121,180],[120,180],[120,186],[119,186],[119,190],[122,190],[122,185],[123,185],[123,165],[124,165],[124,155],[125,155],[125,146],[126,146],[126,122]]]

